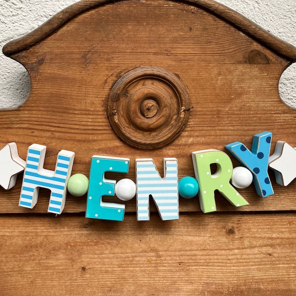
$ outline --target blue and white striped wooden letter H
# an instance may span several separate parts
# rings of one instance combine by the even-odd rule
[[[75,153],[61,150],[55,171],[43,168],[46,146],[33,144],[28,149],[19,206],[33,209],[37,204],[39,188],[51,191],[48,212],[61,214],[65,207],[67,181],[71,176]]]

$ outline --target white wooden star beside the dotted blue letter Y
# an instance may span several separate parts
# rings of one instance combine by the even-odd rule
[[[276,183],[287,186],[296,178],[296,149],[288,143],[278,141],[268,162]]]

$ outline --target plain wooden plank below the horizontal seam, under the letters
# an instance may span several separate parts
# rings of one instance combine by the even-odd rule
[[[296,217],[0,216],[0,294],[296,294]]]

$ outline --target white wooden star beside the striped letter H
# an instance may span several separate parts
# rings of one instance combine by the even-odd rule
[[[12,188],[25,166],[26,161],[19,157],[16,144],[5,145],[0,150],[0,185],[6,190]]]

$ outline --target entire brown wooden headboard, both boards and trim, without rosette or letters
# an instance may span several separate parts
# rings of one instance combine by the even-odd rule
[[[163,176],[163,158],[176,157],[182,178],[194,176],[192,151],[251,148],[264,131],[273,133],[271,153],[276,141],[296,147],[296,111],[278,94],[296,48],[211,0],[83,0],[3,52],[26,67],[32,89],[19,109],[0,112],[0,146],[16,142],[26,159],[30,145],[45,145],[49,170],[67,149],[73,173],[89,176],[92,155],[129,157],[128,174],[106,178],[135,181],[136,158],[152,157]],[[113,85],[143,66],[175,74],[194,107],[162,148],[125,144],[107,114]],[[124,221],[112,222],[85,219],[86,196],[70,194],[65,214],[37,214],[49,202],[42,188],[34,209],[18,207],[19,174],[11,190],[0,188],[0,295],[296,295],[296,182],[270,177],[275,194],[240,189],[243,208],[217,193],[219,213],[201,214],[197,197],[180,198],[187,213],[178,221],[152,213],[137,222],[135,200],[104,198],[126,204]]]

